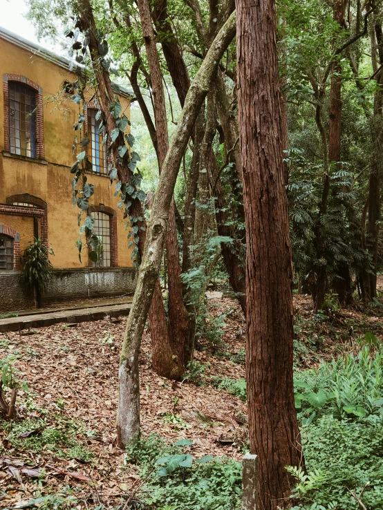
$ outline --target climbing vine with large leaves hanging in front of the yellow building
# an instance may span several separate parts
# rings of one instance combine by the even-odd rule
[[[66,92],[71,95],[71,100],[78,104],[79,112],[77,120],[73,124],[75,130],[75,140],[73,143],[73,152],[78,152],[76,161],[71,167],[71,173],[74,174],[72,180],[73,189],[73,205],[77,205],[80,209],[78,214],[78,226],[80,227],[80,235],[77,239],[76,246],[79,250],[79,258],[81,261],[81,253],[84,247],[88,247],[88,257],[92,262],[97,262],[101,249],[99,239],[93,234],[94,219],[91,215],[91,207],[89,199],[93,196],[95,187],[88,182],[88,173],[92,171],[92,163],[88,158],[87,149],[90,144],[88,133],[84,128],[86,120],[86,94],[93,91],[89,102],[93,102],[98,106],[98,111],[95,116],[99,124],[99,133],[103,135],[102,144],[106,146],[106,158],[111,161],[111,155],[114,154],[114,161],[109,162],[107,173],[111,180],[111,185],[115,182],[115,197],[119,196],[120,201],[118,207],[124,211],[124,219],[128,220],[127,228],[131,227],[128,232],[129,244],[128,248],[133,248],[131,258],[133,264],[137,264],[138,255],[138,242],[140,239],[140,231],[144,231],[144,218],[143,214],[137,214],[137,210],[142,210],[140,206],[135,207],[133,214],[133,202],[144,202],[146,195],[141,189],[142,175],[137,167],[140,161],[140,156],[136,151],[133,151],[134,136],[132,133],[125,133],[127,126],[130,126],[129,118],[125,115],[122,105],[120,103],[118,93],[121,92],[117,84],[112,84],[113,97],[109,97],[109,104],[102,104],[100,100],[99,84],[94,73],[94,66],[102,66],[103,71],[107,73],[116,73],[111,66],[111,59],[108,57],[109,46],[104,39],[104,34],[100,30],[93,30],[93,35],[97,40],[97,62],[91,59],[89,48],[91,37],[89,30],[82,28],[82,23],[79,22],[77,17],[73,18],[73,30],[66,31],[66,37],[72,39],[71,49],[71,67],[70,69],[76,73],[77,79],[75,82],[64,84]],[[103,108],[109,108],[109,112],[115,121],[115,127],[108,131],[108,124],[106,122],[106,115]],[[109,123],[110,127],[110,123]],[[77,133],[78,132],[78,133]],[[80,151],[79,151],[80,147]],[[117,151],[113,151],[117,149]],[[125,166],[129,169],[129,175],[124,175],[124,172],[118,171],[118,167],[122,167],[124,162]],[[83,220],[84,218],[84,220]],[[83,239],[85,237],[85,242]]]

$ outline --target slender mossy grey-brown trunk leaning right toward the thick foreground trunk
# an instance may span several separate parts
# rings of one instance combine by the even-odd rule
[[[122,343],[118,372],[119,394],[118,444],[125,446],[140,429],[140,378],[138,355],[151,297],[160,271],[171,200],[180,162],[185,153],[196,117],[212,84],[219,61],[235,35],[233,13],[214,39],[185,100],[176,133],[162,165],[156,199],[147,228],[136,292],[134,293],[127,329]]]

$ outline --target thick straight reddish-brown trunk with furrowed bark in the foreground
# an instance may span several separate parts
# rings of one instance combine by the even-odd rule
[[[246,375],[258,510],[277,509],[302,462],[292,385],[292,260],[274,0],[237,0],[239,134],[247,239]]]

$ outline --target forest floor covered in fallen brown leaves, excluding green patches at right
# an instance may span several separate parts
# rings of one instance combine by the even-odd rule
[[[295,295],[294,307],[298,369],[353,350],[355,338],[366,332],[382,339],[383,308],[378,304],[335,310],[328,320],[313,317],[309,296]],[[193,440],[187,451],[194,457],[241,460],[247,443],[245,321],[238,303],[228,297],[209,299],[207,308],[206,338],[198,341],[182,382],[153,372],[150,335],[144,334],[142,432],[157,433],[169,443]],[[17,357],[18,377],[29,391],[19,391],[17,420],[0,422],[0,508],[38,507],[50,495],[70,502],[68,508],[112,508],[140,487],[136,467],[116,446],[125,322],[106,318],[75,328],[53,325],[30,336],[1,334],[0,360]]]

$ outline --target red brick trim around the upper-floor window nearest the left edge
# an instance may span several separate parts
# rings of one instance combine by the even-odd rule
[[[8,82],[21,82],[36,91],[36,159],[45,159],[44,142],[44,111],[43,111],[43,89],[31,79],[7,73],[3,75],[3,104],[4,104],[4,149],[10,152],[9,136],[9,87]]]

